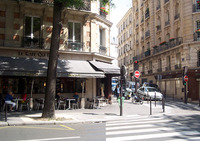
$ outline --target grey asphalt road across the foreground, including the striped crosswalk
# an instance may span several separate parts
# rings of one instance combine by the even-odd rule
[[[200,140],[200,114],[138,116],[105,123],[0,127],[2,141]]]

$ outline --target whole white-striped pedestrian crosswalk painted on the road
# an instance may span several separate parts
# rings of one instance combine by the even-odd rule
[[[197,141],[200,132],[165,117],[138,117],[106,123],[106,141]]]

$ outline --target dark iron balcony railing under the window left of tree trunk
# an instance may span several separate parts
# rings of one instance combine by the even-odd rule
[[[22,47],[25,48],[43,48],[44,39],[43,38],[31,38],[23,37],[22,38]]]

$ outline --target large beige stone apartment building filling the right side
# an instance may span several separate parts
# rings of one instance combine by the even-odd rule
[[[130,52],[133,55],[132,62],[137,61],[139,65],[140,83],[157,83],[163,93],[184,99],[182,76],[183,67],[186,67],[189,77],[186,86],[188,100],[198,100],[200,98],[199,0],[133,0],[132,2],[133,48]],[[121,58],[122,56],[125,56],[125,53]]]

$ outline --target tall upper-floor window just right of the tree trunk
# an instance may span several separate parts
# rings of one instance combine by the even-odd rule
[[[71,42],[81,42],[81,24],[68,23],[68,40]]]

